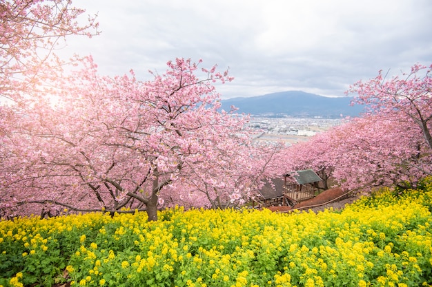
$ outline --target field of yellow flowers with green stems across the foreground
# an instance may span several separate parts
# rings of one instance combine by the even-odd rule
[[[343,211],[89,213],[0,222],[0,285],[432,286],[432,180]]]

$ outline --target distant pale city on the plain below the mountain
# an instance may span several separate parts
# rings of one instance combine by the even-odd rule
[[[285,145],[294,145],[297,142],[306,142],[331,127],[341,125],[338,118],[267,118],[251,116],[248,126],[257,131],[254,140],[259,142],[284,142]]]

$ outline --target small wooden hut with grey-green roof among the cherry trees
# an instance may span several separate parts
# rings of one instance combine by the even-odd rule
[[[320,176],[312,169],[296,171],[284,176],[284,195],[291,201],[300,202],[315,197],[318,192]]]

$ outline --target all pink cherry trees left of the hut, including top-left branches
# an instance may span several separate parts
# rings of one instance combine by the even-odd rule
[[[176,59],[152,81],[101,76],[90,56],[54,54],[62,37],[97,28],[79,27],[70,1],[1,11],[1,215],[126,208],[157,220],[161,206],[243,204],[275,176],[279,147],[253,145],[247,117],[219,111],[213,83],[227,71]]]

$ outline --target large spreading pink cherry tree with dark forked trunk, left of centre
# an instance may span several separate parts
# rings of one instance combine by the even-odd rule
[[[211,84],[232,80],[227,72],[202,69],[206,77],[199,79],[197,64],[177,59],[144,83],[133,73],[98,76],[91,59],[82,63],[77,73],[52,78],[27,105],[14,106],[19,120],[8,125],[1,170],[1,190],[12,198],[2,202],[3,210],[22,204],[127,207],[146,209],[156,220],[158,204],[173,193],[193,192],[187,189],[193,185],[220,189],[217,200],[242,203],[254,184],[243,171],[257,169],[259,161],[248,150],[244,121],[218,111]],[[210,193],[206,200],[215,205]]]

